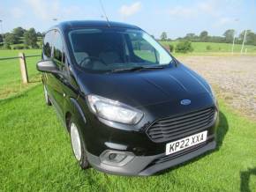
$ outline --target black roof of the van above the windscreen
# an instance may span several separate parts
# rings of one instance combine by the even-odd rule
[[[108,22],[105,20],[74,20],[74,21],[65,21],[61,22],[56,27],[61,28],[62,30],[70,28],[80,28],[80,27],[122,27],[122,28],[133,28],[139,29],[138,26],[133,26],[129,24],[119,23],[119,22]]]

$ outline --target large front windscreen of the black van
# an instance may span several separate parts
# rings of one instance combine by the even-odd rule
[[[111,71],[169,65],[172,57],[141,30],[77,29],[68,33],[75,62],[85,70]]]

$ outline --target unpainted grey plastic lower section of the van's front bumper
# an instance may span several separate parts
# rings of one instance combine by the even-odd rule
[[[207,141],[192,146],[191,148],[179,151],[166,156],[165,153],[153,156],[135,156],[132,161],[124,166],[109,166],[103,164],[101,159],[87,152],[87,159],[95,169],[108,173],[119,175],[152,175],[172,166],[184,163],[187,160],[200,156],[206,151],[214,150],[216,147],[215,137],[208,137]]]

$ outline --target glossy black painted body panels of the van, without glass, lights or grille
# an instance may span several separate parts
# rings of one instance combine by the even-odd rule
[[[65,74],[43,74],[43,84],[49,97],[67,125],[69,115],[79,124],[87,151],[99,156],[111,148],[132,151],[136,155],[157,155],[165,151],[166,143],[152,142],[145,133],[155,120],[184,114],[205,107],[215,106],[207,82],[182,63],[161,70],[124,73],[87,73],[75,64],[70,56],[67,32],[74,28],[109,27],[105,21],[71,21],[51,28],[62,34],[65,51]],[[111,27],[136,28],[110,22]],[[96,117],[87,107],[86,95],[94,93],[111,100],[119,100],[143,111],[142,120],[136,125],[109,122]],[[191,105],[180,105],[180,100],[192,100]],[[215,135],[215,124],[208,128],[208,136]],[[181,136],[182,137],[182,136]],[[119,145],[115,145],[119,144]]]

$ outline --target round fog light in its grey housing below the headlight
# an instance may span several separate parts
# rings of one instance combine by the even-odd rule
[[[100,155],[100,159],[102,163],[108,164],[110,166],[124,166],[133,158],[134,158],[133,153],[126,152],[126,151],[106,150],[106,151],[103,151],[102,154]]]

